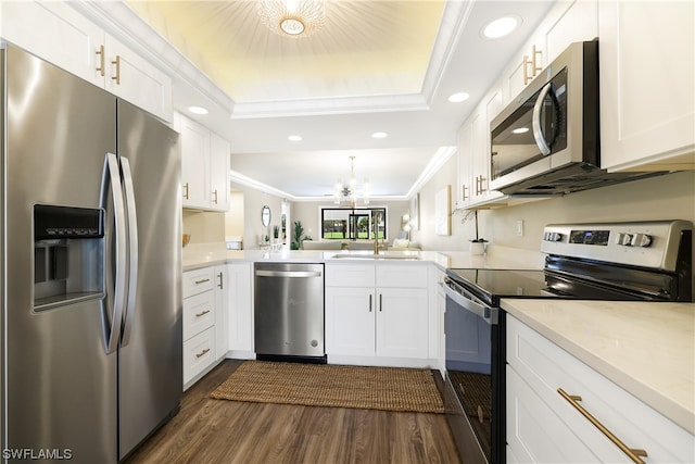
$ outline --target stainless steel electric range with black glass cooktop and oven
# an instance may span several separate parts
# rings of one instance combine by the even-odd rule
[[[686,221],[556,224],[542,271],[447,269],[443,397],[464,462],[506,461],[502,298],[692,302],[692,247]]]

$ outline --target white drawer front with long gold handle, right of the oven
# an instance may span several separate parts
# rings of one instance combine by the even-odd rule
[[[507,362],[602,461],[615,461],[617,446],[563,398],[559,388],[581,397],[578,404],[629,448],[646,450],[647,462],[694,462],[695,438],[687,430],[511,316]]]

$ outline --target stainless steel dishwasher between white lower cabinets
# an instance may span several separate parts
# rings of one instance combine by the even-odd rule
[[[256,263],[254,279],[256,358],[326,363],[324,265]]]

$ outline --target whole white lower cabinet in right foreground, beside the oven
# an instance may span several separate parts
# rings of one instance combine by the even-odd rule
[[[507,316],[507,462],[695,462],[695,437],[572,354]],[[566,397],[561,392],[567,393]]]

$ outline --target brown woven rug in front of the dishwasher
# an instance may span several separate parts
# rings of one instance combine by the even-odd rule
[[[432,372],[247,361],[212,393],[218,400],[443,413]]]

